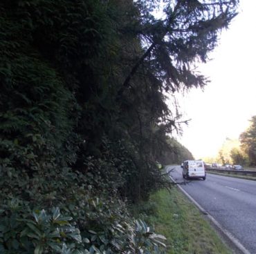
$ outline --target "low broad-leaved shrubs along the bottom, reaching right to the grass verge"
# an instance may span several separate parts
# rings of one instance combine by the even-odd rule
[[[161,242],[165,238],[152,232],[145,222],[103,211],[99,199],[91,200],[91,204],[94,213],[90,209],[86,218],[76,216],[75,222],[72,217],[62,216],[59,208],[48,213],[29,212],[24,204],[12,199],[1,209],[1,253],[161,253],[159,246],[165,246]],[[103,216],[107,217],[105,221]]]

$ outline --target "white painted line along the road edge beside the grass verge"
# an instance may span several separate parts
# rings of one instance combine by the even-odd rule
[[[212,222],[212,224],[214,224],[214,226],[216,226],[216,228],[225,236],[228,238],[228,240],[234,244],[234,246],[241,251],[241,253],[243,254],[251,254],[250,251],[248,251],[243,244],[241,244],[241,242],[239,242],[239,240],[237,240],[237,238],[232,235],[232,233],[230,233],[229,231],[227,231],[225,228],[223,228],[221,226],[221,224],[219,224],[219,222],[217,222],[216,219],[214,219],[214,217],[212,217],[212,215],[209,214],[205,214],[205,209],[203,209],[203,207],[196,202],[196,200],[193,199],[193,197],[191,197],[185,190],[183,190],[183,188],[181,188],[180,184],[178,184],[170,175],[170,171],[167,171],[167,173],[169,174],[170,179],[172,179],[172,182],[174,182],[174,184],[176,184],[178,186],[178,188],[184,193],[185,196],[188,197],[188,199],[190,199],[190,201],[192,203],[194,203],[196,205],[197,208],[199,208],[199,211],[201,211],[201,213],[203,213],[205,215],[205,217],[208,217],[208,219]]]

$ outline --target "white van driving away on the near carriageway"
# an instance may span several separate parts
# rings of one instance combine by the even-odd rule
[[[183,162],[183,178],[206,178],[205,166],[203,161],[188,160]]]

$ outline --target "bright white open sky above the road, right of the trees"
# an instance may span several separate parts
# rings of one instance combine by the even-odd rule
[[[239,6],[211,61],[199,66],[210,84],[179,96],[183,119],[191,121],[177,139],[198,159],[216,156],[226,137],[238,139],[256,115],[256,1],[241,0]]]

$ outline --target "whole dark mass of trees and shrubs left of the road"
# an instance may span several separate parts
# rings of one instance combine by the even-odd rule
[[[161,253],[127,205],[192,156],[166,95],[205,86],[237,1],[158,4],[0,1],[0,253]]]

